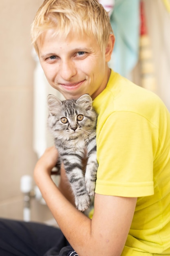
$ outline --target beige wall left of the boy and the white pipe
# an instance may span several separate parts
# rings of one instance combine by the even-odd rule
[[[22,219],[22,175],[33,174],[33,70],[30,25],[42,0],[0,1],[0,217]],[[52,218],[31,202],[31,219]]]

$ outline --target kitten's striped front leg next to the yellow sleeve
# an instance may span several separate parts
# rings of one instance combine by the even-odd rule
[[[97,157],[96,157],[96,142],[95,139],[87,146],[88,161],[85,173],[86,191],[89,196],[95,195],[96,175],[97,175]]]

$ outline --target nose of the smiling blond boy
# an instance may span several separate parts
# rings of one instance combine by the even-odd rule
[[[70,81],[71,77],[77,73],[73,61],[64,61],[60,64],[60,76],[66,81]]]

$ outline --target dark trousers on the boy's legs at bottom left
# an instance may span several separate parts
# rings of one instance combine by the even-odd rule
[[[76,256],[60,229],[0,219],[0,256]]]

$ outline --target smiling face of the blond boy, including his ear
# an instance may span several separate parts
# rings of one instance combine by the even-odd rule
[[[102,53],[94,36],[54,36],[50,29],[38,40],[40,63],[50,85],[66,99],[88,93],[94,99],[106,87],[110,53]]]

